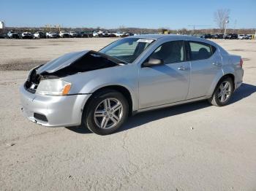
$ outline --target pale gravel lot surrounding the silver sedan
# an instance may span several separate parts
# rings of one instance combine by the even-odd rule
[[[1,190],[256,190],[256,41],[216,41],[244,58],[244,84],[225,107],[137,114],[110,136],[22,116],[26,70],[113,40],[0,39]]]

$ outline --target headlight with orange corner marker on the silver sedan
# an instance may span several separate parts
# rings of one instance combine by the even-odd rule
[[[39,82],[36,93],[41,95],[67,95],[71,83],[61,79],[45,79]]]

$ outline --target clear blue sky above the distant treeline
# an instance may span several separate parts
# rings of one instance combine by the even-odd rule
[[[229,28],[256,28],[256,0],[0,0],[0,20],[12,27],[217,28],[217,9],[230,9]]]

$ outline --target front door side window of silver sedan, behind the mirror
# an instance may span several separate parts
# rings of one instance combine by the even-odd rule
[[[164,63],[184,62],[184,41],[165,42],[154,50],[149,58],[162,59]]]

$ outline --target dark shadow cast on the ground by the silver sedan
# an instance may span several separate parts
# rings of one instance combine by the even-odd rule
[[[243,98],[246,98],[255,92],[256,92],[255,85],[242,84],[241,87],[239,87],[238,90],[236,90],[236,92],[233,94],[233,97],[230,100],[230,104],[234,104],[237,101],[241,101]],[[211,105],[208,104],[207,101],[197,101],[191,104],[183,104],[179,106],[167,107],[165,109],[157,109],[149,112],[138,113],[132,117],[129,117],[129,120],[123,125],[122,128],[118,130],[118,132],[129,130],[131,128],[136,128],[140,125],[146,124],[148,122],[152,122],[154,120],[163,119],[165,117],[171,117],[178,114],[193,112],[193,111],[196,111],[197,109],[203,109],[208,106],[211,106]],[[72,130],[75,133],[91,133],[90,130],[82,126],[69,127],[67,129]]]

